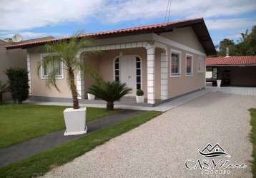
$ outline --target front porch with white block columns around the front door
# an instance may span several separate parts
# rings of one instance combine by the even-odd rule
[[[99,55],[87,56],[88,51],[102,51]],[[103,80],[119,80],[132,88],[132,93],[118,101],[120,105],[154,105],[168,99],[167,46],[154,42],[122,43],[110,46],[86,48],[78,54],[80,60],[101,75]],[[87,90],[94,80],[79,71],[77,91],[79,99],[87,99]],[[137,90],[144,91],[144,103],[136,103]],[[88,100],[100,103],[101,100]]]

